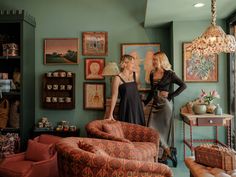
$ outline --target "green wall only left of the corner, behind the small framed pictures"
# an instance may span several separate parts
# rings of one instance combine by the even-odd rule
[[[134,6],[135,4],[135,6]],[[61,120],[68,120],[81,129],[97,118],[103,118],[103,111],[83,110],[84,56],[80,55],[79,65],[43,64],[44,38],[80,39],[84,31],[108,32],[107,61],[119,61],[121,43],[161,43],[161,49],[169,53],[169,32],[162,28],[144,28],[146,0],[1,0],[2,9],[24,9],[36,19],[36,109],[35,122],[46,116],[56,125]],[[76,73],[76,108],[74,110],[46,110],[41,108],[41,79],[48,71],[64,69]],[[101,81],[99,81],[101,82]],[[109,84],[109,80],[106,79]],[[110,86],[107,84],[107,96]],[[30,98],[29,98],[30,99]],[[30,119],[30,118],[29,118]]]

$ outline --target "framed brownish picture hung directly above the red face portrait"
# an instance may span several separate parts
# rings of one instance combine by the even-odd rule
[[[108,52],[107,32],[83,32],[83,50],[85,56],[106,56]]]

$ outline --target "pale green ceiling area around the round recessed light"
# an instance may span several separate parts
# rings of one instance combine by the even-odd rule
[[[195,8],[202,2],[204,7]],[[217,19],[236,11],[236,0],[216,0]],[[210,20],[211,0],[147,0],[145,27],[160,26],[171,21]]]

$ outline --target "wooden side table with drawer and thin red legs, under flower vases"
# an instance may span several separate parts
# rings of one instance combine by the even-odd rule
[[[183,119],[183,143],[184,143],[184,158],[186,154],[186,145],[191,150],[191,155],[193,155],[194,151],[194,142],[200,143],[215,143],[220,144],[222,146],[229,146],[231,147],[231,123],[233,116],[230,114],[222,114],[222,115],[215,115],[215,114],[190,114],[190,113],[180,113],[182,119]],[[185,136],[185,124],[189,125],[190,128],[190,139],[186,139]],[[200,126],[211,126],[215,127],[215,138],[213,139],[193,139],[193,131],[192,128],[194,126],[200,127]],[[220,142],[218,140],[218,126],[224,126],[227,131],[227,145]]]

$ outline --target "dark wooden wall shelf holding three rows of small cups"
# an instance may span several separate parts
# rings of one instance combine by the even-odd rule
[[[64,70],[47,72],[43,75],[43,108],[75,108],[75,73]]]

